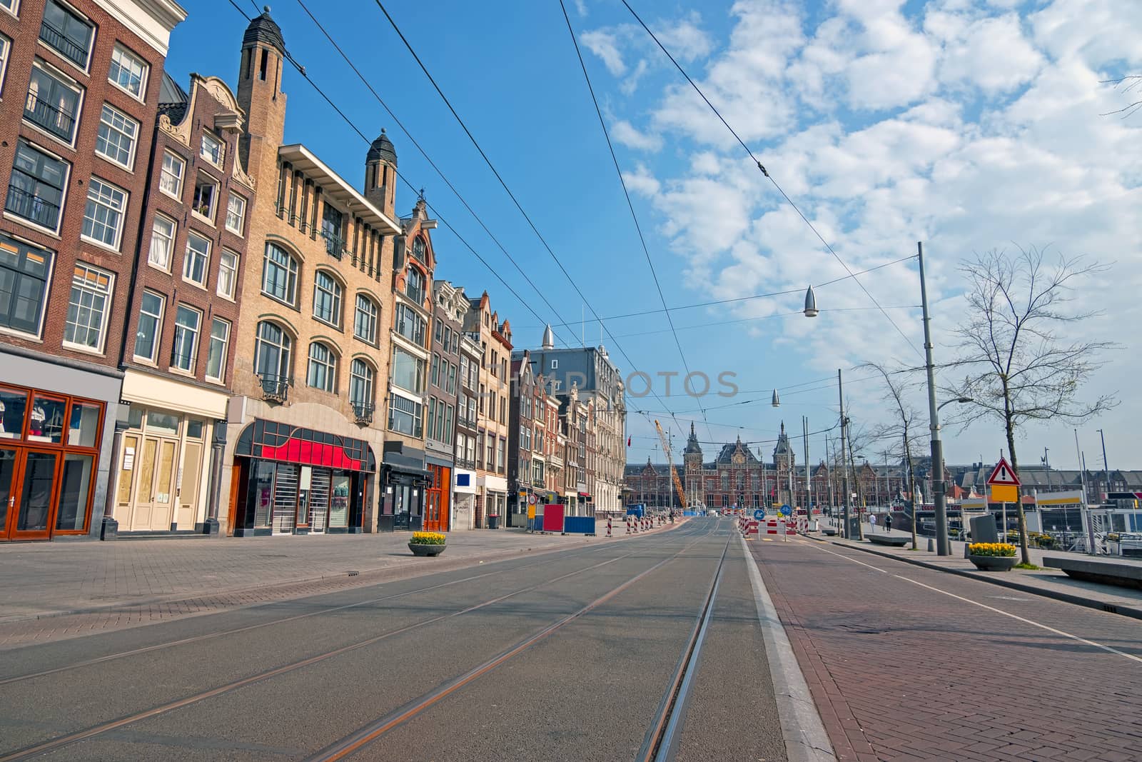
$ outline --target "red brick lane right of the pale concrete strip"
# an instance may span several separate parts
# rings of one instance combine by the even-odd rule
[[[1135,620],[806,540],[753,550],[838,759],[1142,759]]]

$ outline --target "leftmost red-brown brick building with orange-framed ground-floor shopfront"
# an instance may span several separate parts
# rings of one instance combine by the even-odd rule
[[[0,2],[0,540],[98,536],[170,0]]]

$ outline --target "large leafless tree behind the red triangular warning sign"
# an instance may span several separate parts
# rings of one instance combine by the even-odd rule
[[[1073,323],[1097,314],[1068,311],[1065,305],[1072,300],[1076,281],[1107,267],[1062,255],[1046,263],[1042,250],[1030,248],[1019,254],[992,250],[959,270],[967,280],[967,310],[956,329],[959,358],[952,364],[967,375],[951,388],[955,395],[972,399],[965,408],[982,414],[963,416],[959,423],[966,427],[986,418],[1002,422],[1011,466],[1018,472],[1015,432],[1022,426],[1056,418],[1072,425],[1117,404],[1112,395],[1078,399],[1079,387],[1103,364],[1097,355],[1116,345],[1055,332],[1071,326],[1068,334],[1073,335]],[[1022,500],[1015,507],[1022,562],[1030,563]]]

